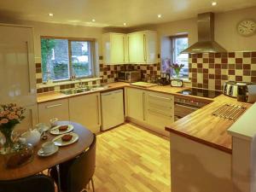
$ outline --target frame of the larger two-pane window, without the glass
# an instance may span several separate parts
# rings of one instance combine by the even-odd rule
[[[69,78],[68,79],[57,79],[57,80],[53,79],[54,83],[65,82],[65,81],[72,80],[73,70],[72,70],[72,47],[71,47],[71,42],[79,42],[79,41],[80,42],[85,42],[86,41],[86,42],[90,43],[90,60],[91,60],[91,71],[92,71],[91,75],[90,76],[84,76],[84,77],[76,77],[76,79],[90,79],[90,78],[96,77],[96,49],[95,49],[96,39],[95,38],[67,38],[67,37],[55,37],[55,36],[41,36],[40,37],[40,45],[41,45],[41,39],[42,38],[67,40]],[[41,53],[42,53],[42,50],[41,50]],[[43,74],[43,69],[42,69],[42,76],[43,75],[44,74]]]

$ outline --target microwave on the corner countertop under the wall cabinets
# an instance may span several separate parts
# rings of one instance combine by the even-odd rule
[[[120,71],[118,73],[118,80],[128,83],[137,82],[142,79],[141,71]]]

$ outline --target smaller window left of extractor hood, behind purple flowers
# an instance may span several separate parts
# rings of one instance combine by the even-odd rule
[[[189,54],[181,54],[183,49],[188,48],[189,42],[186,36],[177,36],[171,38],[172,42],[172,63],[183,64],[180,71],[183,78],[189,78]]]

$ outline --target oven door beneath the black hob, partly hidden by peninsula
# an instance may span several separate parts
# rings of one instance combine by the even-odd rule
[[[189,113],[193,113],[197,110],[195,106],[184,105],[182,103],[174,104],[174,117],[175,120],[182,119],[187,116]]]

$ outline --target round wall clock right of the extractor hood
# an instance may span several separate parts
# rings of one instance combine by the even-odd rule
[[[237,25],[237,32],[242,36],[250,36],[256,32],[256,22],[254,20],[241,20]]]

